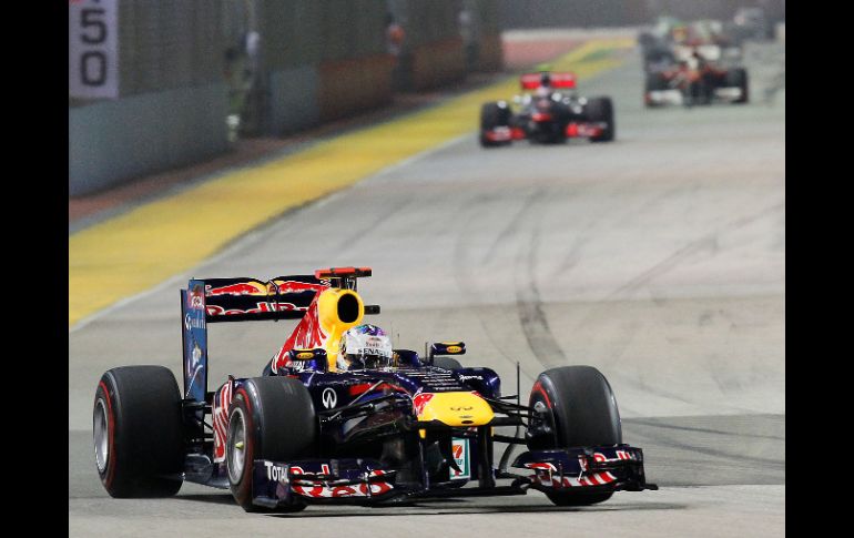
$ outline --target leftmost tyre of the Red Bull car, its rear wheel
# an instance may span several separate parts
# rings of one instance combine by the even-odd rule
[[[101,376],[93,407],[95,467],[118,498],[171,497],[183,484],[181,393],[163,366],[122,366]]]

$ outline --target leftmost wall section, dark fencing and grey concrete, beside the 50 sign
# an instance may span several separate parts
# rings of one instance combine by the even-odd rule
[[[69,195],[227,150],[226,0],[119,2],[119,94],[69,100]]]

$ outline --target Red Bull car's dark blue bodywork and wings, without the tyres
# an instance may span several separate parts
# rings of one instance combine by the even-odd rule
[[[515,447],[552,433],[542,419],[535,426],[530,418],[540,412],[521,405],[518,394],[502,394],[492,369],[437,361],[465,354],[461,342],[434,344],[425,357],[395,349],[393,366],[339,372],[335,338],[362,323],[366,313],[379,311],[365,305],[356,291],[356,278],[369,275],[369,268],[350,267],[270,282],[190,281],[181,293],[184,480],[230,487],[230,410],[237,394],[254,390],[253,378],[230,376],[207,392],[207,323],[289,318],[299,323],[263,377],[286,377],[305,387],[316,417],[316,439],[305,457],[246,461],[253,506],[510,495],[529,488],[561,495],[655,489],[645,483],[641,449],[622,443],[531,449],[512,461],[510,467],[518,469],[512,473],[508,448],[496,465],[495,441]],[[281,410],[281,420],[288,420],[288,409]],[[526,435],[499,435],[500,426]],[[464,487],[468,483],[476,486]]]

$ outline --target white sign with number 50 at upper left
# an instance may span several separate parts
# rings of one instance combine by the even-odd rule
[[[69,0],[69,97],[118,98],[119,0]]]

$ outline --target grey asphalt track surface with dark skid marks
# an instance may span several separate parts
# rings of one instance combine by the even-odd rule
[[[474,133],[288,213],[69,333],[71,536],[780,536],[785,524],[784,45],[745,58],[749,105],[644,110],[637,54],[586,82],[618,141],[481,150]],[[784,82],[783,82],[784,84]],[[767,91],[766,91],[767,90]],[[203,223],[200,223],[203,225]],[[522,394],[569,364],[610,380],[659,491],[558,508],[539,493],[247,515],[227,491],[108,497],[91,403],[102,372],[181,375],[187,276],[369,265],[359,291],[397,347],[464,339]],[[293,323],[217,325],[211,379],[260,375]],[[406,516],[406,517],[399,517]]]

